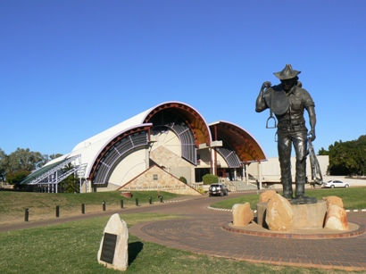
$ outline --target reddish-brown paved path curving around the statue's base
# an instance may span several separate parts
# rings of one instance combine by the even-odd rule
[[[323,270],[366,271],[366,233],[354,237],[279,238],[246,235],[224,229],[231,220],[228,211],[212,211],[211,203],[245,193],[225,197],[188,197],[176,201],[130,207],[118,211],[90,213],[67,218],[24,222],[2,226],[0,232],[35,228],[54,223],[108,216],[114,212],[159,212],[187,217],[140,223],[129,228],[129,233],[148,242],[171,248],[208,254],[246,262],[271,263]],[[348,221],[362,231],[366,226],[366,212],[347,212]]]

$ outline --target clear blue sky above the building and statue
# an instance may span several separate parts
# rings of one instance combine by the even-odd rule
[[[262,82],[302,71],[315,151],[366,134],[366,1],[0,0],[0,148],[67,154],[166,101],[277,156]]]

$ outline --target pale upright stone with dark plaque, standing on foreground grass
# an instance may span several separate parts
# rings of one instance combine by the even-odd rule
[[[115,213],[104,228],[104,236],[98,250],[98,262],[114,270],[129,267],[129,229],[120,215]]]

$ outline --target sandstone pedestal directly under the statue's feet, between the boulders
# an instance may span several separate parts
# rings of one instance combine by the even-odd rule
[[[268,228],[266,223],[267,207],[268,203],[257,203],[257,223],[263,228]],[[327,213],[326,201],[319,200],[318,203],[310,204],[291,204],[291,207],[294,216],[289,230],[323,228]]]

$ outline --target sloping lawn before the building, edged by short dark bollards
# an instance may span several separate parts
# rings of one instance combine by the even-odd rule
[[[157,191],[133,191],[132,198],[126,198],[119,191],[94,192],[87,194],[64,194],[64,193],[35,193],[0,191],[0,224],[24,220],[25,209],[29,208],[29,220],[49,219],[55,217],[55,208],[60,206],[60,216],[81,213],[81,204],[85,204],[86,212],[103,211],[103,202],[106,210],[121,208],[121,200],[124,207],[138,204],[160,202],[181,195]]]

